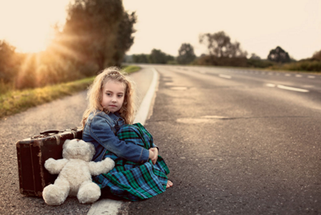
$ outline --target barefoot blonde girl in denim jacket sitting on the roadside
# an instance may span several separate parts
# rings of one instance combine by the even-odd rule
[[[109,157],[115,168],[93,177],[103,190],[137,201],[161,194],[173,186],[168,181],[165,161],[151,134],[133,124],[133,84],[116,67],[96,76],[88,91],[88,108],[83,113],[83,141],[96,148],[93,161]]]

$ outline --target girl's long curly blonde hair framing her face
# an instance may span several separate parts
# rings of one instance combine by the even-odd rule
[[[89,114],[96,114],[97,112],[104,111],[109,114],[107,109],[101,106],[101,101],[103,99],[103,86],[107,81],[119,81],[125,86],[125,97],[123,100],[123,106],[119,110],[119,114],[124,119],[126,124],[133,124],[133,116],[136,111],[136,94],[134,90],[134,84],[131,79],[125,75],[118,67],[109,67],[104,69],[101,74],[96,76],[93,84],[88,89],[87,99],[88,107],[86,111],[83,112],[83,119],[81,121],[84,127],[88,119]]]

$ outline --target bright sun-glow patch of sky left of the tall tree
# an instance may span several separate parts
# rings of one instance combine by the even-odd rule
[[[70,0],[0,0],[0,40],[19,52],[44,51],[54,36],[54,24],[66,20]]]

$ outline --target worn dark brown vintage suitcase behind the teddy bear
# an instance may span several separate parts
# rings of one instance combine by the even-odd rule
[[[44,162],[49,159],[62,159],[62,146],[66,139],[82,139],[81,128],[63,131],[43,131],[16,143],[19,167],[20,193],[27,196],[42,196],[45,186],[54,184],[58,175],[49,174]]]

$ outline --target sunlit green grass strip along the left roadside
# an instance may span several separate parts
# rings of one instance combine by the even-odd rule
[[[139,66],[126,66],[123,68],[128,74],[139,69],[141,69]],[[36,89],[8,91],[6,94],[0,94],[0,119],[26,111],[26,109],[33,106],[86,90],[93,82],[93,79],[95,77]]]

